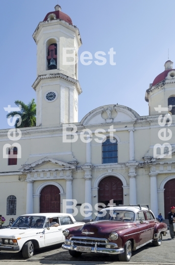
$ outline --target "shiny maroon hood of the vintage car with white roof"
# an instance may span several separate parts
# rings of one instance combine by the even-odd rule
[[[83,225],[82,230],[71,231],[71,236],[73,236],[74,234],[74,236],[102,238],[107,233],[111,233],[112,231],[116,231],[119,229],[125,229],[131,225],[131,222],[123,222],[116,220],[94,221]]]

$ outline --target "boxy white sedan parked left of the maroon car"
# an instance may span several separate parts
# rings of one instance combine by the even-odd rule
[[[62,231],[82,226],[69,213],[33,213],[19,216],[13,225],[0,230],[0,252],[19,252],[23,257],[33,256],[35,248],[65,241]]]

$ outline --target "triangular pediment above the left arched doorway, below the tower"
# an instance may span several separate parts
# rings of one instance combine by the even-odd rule
[[[49,157],[37,160],[31,164],[23,165],[20,171],[49,170],[49,169],[74,169],[75,166]]]

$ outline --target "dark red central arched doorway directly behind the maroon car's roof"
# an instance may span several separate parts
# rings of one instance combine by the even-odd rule
[[[114,200],[116,205],[123,204],[123,183],[113,176],[102,179],[99,183],[99,203],[107,205]]]

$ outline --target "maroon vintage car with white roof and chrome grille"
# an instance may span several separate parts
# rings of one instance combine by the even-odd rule
[[[152,242],[160,246],[167,225],[159,223],[149,206],[117,206],[102,209],[95,221],[63,231],[63,249],[73,257],[82,252],[119,254],[129,262],[132,251]]]

